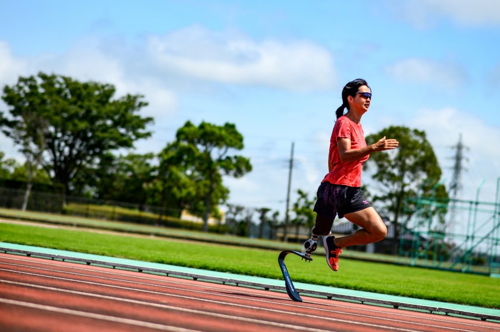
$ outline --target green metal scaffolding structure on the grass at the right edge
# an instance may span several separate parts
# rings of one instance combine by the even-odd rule
[[[412,213],[401,224],[399,263],[500,277],[500,178],[494,202],[478,200],[483,184],[475,201],[407,199]]]

